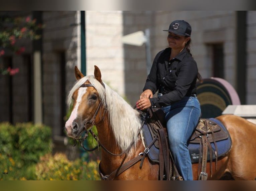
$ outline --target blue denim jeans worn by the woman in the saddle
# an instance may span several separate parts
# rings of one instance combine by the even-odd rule
[[[177,170],[184,180],[193,180],[192,164],[187,141],[195,130],[201,108],[197,97],[186,96],[169,106],[165,113],[170,150]]]

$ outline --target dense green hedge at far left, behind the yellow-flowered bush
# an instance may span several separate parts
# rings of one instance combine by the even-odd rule
[[[51,152],[51,129],[32,123],[0,123],[0,180],[33,178],[40,156]]]

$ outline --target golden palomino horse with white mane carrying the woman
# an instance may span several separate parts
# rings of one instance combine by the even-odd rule
[[[94,76],[86,76],[75,67],[77,83],[68,96],[73,110],[66,122],[67,135],[80,139],[82,132],[96,125],[102,149],[101,173],[116,174],[115,180],[158,180],[159,165],[146,157],[142,168],[137,160],[120,174],[118,169],[137,158],[145,147],[138,133],[141,121],[139,112],[101,80],[101,72],[95,66]],[[232,148],[218,160],[217,170],[208,179],[233,177],[235,180],[256,178],[256,125],[235,115],[217,117],[228,129]],[[213,163],[213,169],[215,164]],[[210,164],[207,164],[210,173]],[[112,173],[113,174],[113,173]],[[193,164],[194,179],[198,178],[198,164]],[[228,176],[227,176],[228,175]],[[231,175],[231,176],[230,176]]]

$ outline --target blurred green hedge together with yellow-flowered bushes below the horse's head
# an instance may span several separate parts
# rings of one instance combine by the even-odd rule
[[[97,161],[52,152],[51,128],[0,123],[0,180],[99,180]],[[2,172],[8,172],[3,174]]]

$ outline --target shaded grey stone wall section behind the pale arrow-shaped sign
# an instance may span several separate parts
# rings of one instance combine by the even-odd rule
[[[124,11],[123,35],[150,30],[150,47],[154,50],[154,11]],[[124,86],[128,102],[134,106],[139,99],[147,78],[146,46],[124,45]],[[151,63],[155,55],[151,51]]]

